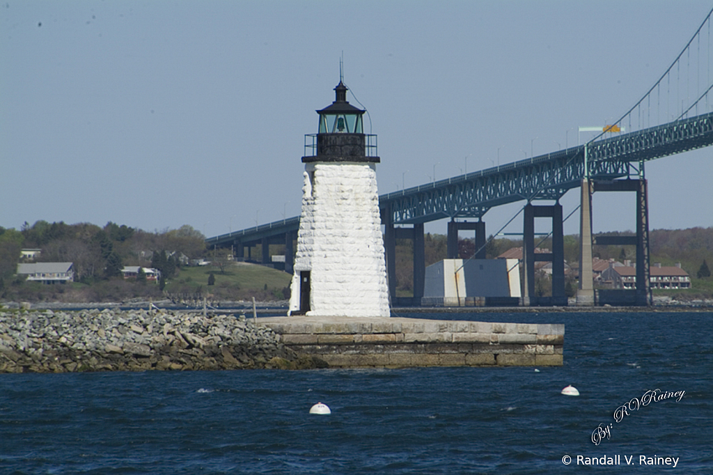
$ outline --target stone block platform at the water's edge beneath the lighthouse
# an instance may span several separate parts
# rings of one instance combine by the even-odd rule
[[[267,317],[280,341],[329,367],[561,366],[565,326],[414,318]]]

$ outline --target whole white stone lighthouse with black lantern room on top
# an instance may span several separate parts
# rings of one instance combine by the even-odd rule
[[[304,185],[290,315],[389,317],[384,240],[376,190],[376,136],[347,86],[319,113],[302,157]],[[307,140],[305,143],[309,143]],[[374,145],[371,145],[371,144]]]

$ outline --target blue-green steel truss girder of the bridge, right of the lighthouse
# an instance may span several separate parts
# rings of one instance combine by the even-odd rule
[[[588,143],[590,178],[639,175],[638,163],[713,145],[713,113]],[[381,195],[394,224],[443,218],[481,218],[490,208],[520,200],[558,200],[584,178],[584,147],[488,168]]]

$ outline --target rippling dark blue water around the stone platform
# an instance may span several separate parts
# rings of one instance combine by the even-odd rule
[[[565,364],[0,374],[0,474],[713,474],[713,312],[412,316],[564,323]]]

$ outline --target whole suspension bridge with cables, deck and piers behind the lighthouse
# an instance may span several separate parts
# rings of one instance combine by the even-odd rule
[[[457,257],[458,230],[475,230],[477,251],[473,257],[481,258],[484,257],[486,245],[483,216],[493,207],[523,201],[523,303],[566,305],[561,249],[562,210],[558,200],[568,190],[581,188],[580,237],[583,245],[580,274],[588,275],[587,272],[590,272],[591,245],[588,242],[636,245],[637,289],[622,302],[634,305],[650,303],[645,163],[713,145],[713,98],[709,98],[713,94],[710,51],[712,14],[713,10],[640,101],[618,121],[603,124],[600,133],[584,145],[379,196],[392,302],[397,302],[396,239],[407,238],[414,242],[414,297],[411,302],[404,303],[418,305],[423,296],[425,275],[424,223],[449,220],[449,258]],[[590,198],[595,191],[637,193],[636,236],[592,240]],[[555,204],[535,204],[545,201],[554,201]],[[550,254],[534,253],[532,222],[535,217],[553,220],[553,252]],[[249,260],[253,259],[252,247],[261,245],[259,260],[265,264],[270,262],[270,245],[284,245],[284,270],[292,272],[298,229],[299,217],[287,218],[210,237],[206,244],[210,247],[232,247],[235,257]],[[553,262],[553,295],[547,299],[533,295],[535,260]],[[587,262],[590,264],[587,265]],[[578,302],[581,305],[595,302],[593,285],[588,279],[580,279]]]

